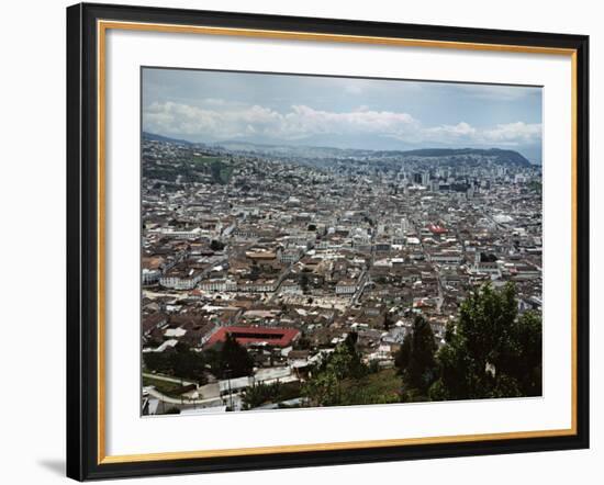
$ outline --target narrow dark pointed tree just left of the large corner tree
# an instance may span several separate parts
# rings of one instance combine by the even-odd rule
[[[405,336],[394,363],[403,376],[404,401],[425,401],[436,379],[436,342],[426,319],[417,315],[411,331]]]

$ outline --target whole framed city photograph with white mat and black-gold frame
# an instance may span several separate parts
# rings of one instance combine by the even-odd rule
[[[588,47],[68,8],[68,476],[588,448]]]

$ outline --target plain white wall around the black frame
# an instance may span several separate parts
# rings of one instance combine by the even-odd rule
[[[305,0],[143,1],[139,4],[250,11],[309,16],[449,24],[476,27],[591,34],[592,188],[602,179],[600,133],[602,12],[595,1],[424,1],[326,2]],[[65,354],[65,12],[63,0],[10,2],[2,8],[0,44],[0,170],[2,327],[0,350],[2,466],[4,483],[64,481]],[[345,5],[345,7],[344,7]],[[599,63],[600,60],[600,63]],[[592,190],[592,248],[602,243],[595,207],[603,191]],[[16,230],[15,230],[16,228]],[[22,235],[22,236],[19,236]],[[48,275],[32,284],[33,273]],[[508,456],[350,465],[295,471],[222,474],[205,484],[339,483],[377,481],[510,484],[597,483],[604,475],[602,377],[604,358],[595,351],[602,329],[595,307],[602,257],[592,255],[592,449]],[[9,330],[10,329],[10,330]],[[600,372],[599,372],[600,371]],[[596,380],[600,383],[596,383]],[[137,483],[199,483],[200,477],[142,480]]]

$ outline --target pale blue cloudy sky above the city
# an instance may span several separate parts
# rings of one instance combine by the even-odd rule
[[[541,88],[143,69],[143,129],[190,142],[505,148],[541,161]]]

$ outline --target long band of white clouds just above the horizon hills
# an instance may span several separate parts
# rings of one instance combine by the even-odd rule
[[[152,103],[145,108],[144,129],[197,140],[235,138],[295,142],[313,136],[373,136],[409,144],[518,146],[537,144],[540,124],[523,122],[476,127],[457,124],[425,126],[409,113],[374,111],[359,106],[348,112],[315,110],[294,104],[279,112],[258,104],[206,99],[199,105],[176,102]]]

